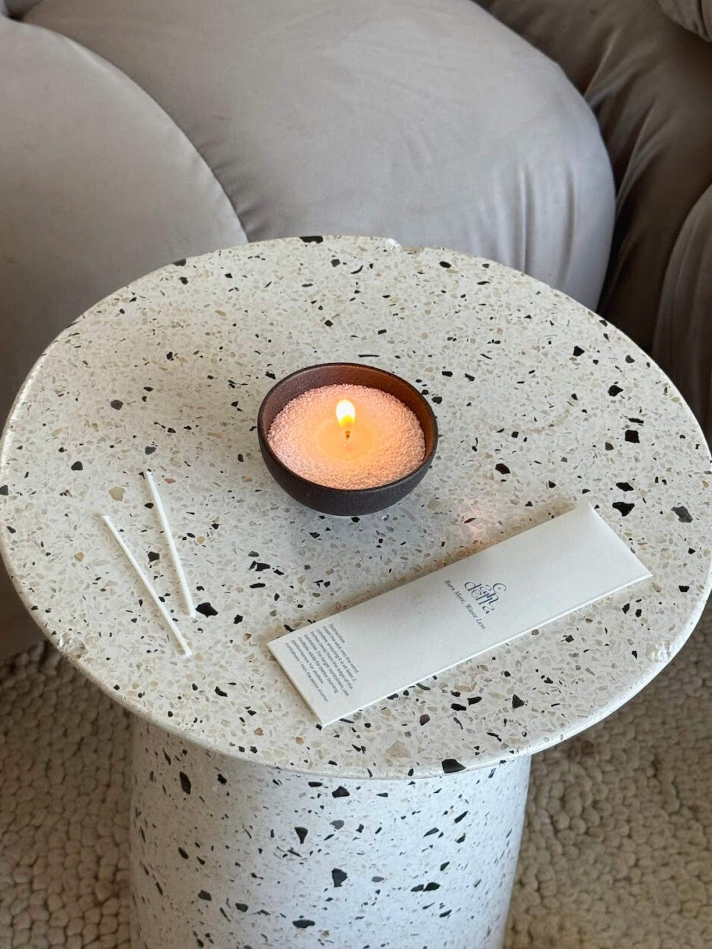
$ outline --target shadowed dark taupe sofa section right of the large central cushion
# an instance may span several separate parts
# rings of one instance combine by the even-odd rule
[[[656,0],[480,4],[561,65],[596,114],[617,190],[600,309],[649,350],[670,254],[712,179],[710,48]]]

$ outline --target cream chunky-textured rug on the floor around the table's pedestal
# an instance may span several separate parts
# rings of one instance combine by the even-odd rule
[[[712,608],[642,695],[534,758],[508,949],[712,946],[711,681]],[[0,666],[0,949],[129,949],[129,739],[48,646]]]

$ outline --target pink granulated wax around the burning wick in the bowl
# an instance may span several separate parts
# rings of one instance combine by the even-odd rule
[[[345,427],[336,418],[341,400],[355,409]],[[425,455],[421,424],[400,399],[348,383],[321,385],[292,399],[272,422],[267,440],[291,471],[329,488],[397,481]]]

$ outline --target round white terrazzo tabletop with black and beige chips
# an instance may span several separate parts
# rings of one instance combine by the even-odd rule
[[[257,446],[273,381],[332,360],[396,372],[439,419],[422,484],[360,519],[300,507]],[[148,466],[196,620],[151,510]],[[710,586],[710,467],[662,371],[563,294],[455,251],[291,238],[149,274],[49,346],[2,445],[0,546],[51,641],[136,715],[279,768],[434,775],[573,735],[672,658]],[[581,500],[651,581],[323,729],[266,647]],[[103,513],[141,554],[194,657],[179,654]]]

